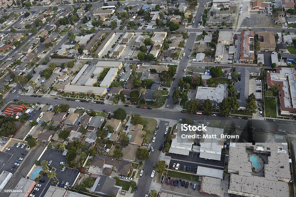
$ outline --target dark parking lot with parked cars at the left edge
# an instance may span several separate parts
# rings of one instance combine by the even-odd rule
[[[22,152],[28,153],[26,150],[26,145],[24,148],[21,148],[23,143],[17,148],[17,143],[14,143],[12,146],[7,146],[7,148],[10,148],[10,150],[5,150],[5,152],[0,152],[0,165],[1,165],[1,171],[0,173],[5,170],[9,171],[10,169],[13,169],[13,171],[17,171],[18,168],[24,163],[25,161],[25,155],[22,155]],[[19,157],[23,158],[20,165],[15,169],[13,168],[15,160],[17,160]]]

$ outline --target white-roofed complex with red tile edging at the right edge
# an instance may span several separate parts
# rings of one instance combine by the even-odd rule
[[[268,89],[279,85],[280,111],[282,115],[296,114],[296,79],[295,68],[279,67],[276,73],[267,73]]]

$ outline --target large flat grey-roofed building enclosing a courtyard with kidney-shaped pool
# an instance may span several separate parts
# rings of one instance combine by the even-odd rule
[[[228,193],[254,197],[289,196],[288,151],[287,143],[230,143]]]

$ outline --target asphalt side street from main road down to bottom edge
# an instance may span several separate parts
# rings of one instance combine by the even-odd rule
[[[145,161],[145,164],[143,166],[144,174],[139,178],[138,186],[139,190],[138,192],[134,193],[134,197],[142,197],[145,196],[145,194],[149,193],[150,190],[150,183],[153,180],[151,176],[152,170],[154,170],[153,164],[158,161],[160,156],[159,147],[161,146],[161,142],[164,139],[164,133],[165,133],[165,127],[167,127],[169,124],[168,121],[160,121],[158,124],[158,132],[156,137],[156,141],[152,143],[152,146],[154,148],[154,152],[150,152],[150,157],[148,160]],[[152,136],[153,137],[153,136]],[[158,174],[155,173],[154,178],[158,177]]]

